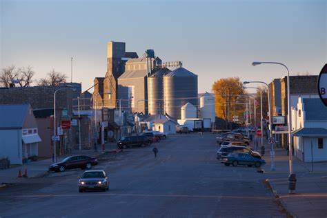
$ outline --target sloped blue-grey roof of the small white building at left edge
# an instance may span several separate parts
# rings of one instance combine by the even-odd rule
[[[23,128],[29,109],[30,105],[28,103],[0,104],[0,128]]]

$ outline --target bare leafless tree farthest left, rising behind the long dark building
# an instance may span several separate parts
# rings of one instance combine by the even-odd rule
[[[15,66],[9,66],[7,68],[2,68],[0,73],[0,80],[2,86],[8,87],[12,80],[18,80],[19,86],[28,87],[32,85],[32,77],[35,72],[32,70],[31,66],[16,68]]]

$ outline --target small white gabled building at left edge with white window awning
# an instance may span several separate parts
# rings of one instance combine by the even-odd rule
[[[37,122],[29,104],[0,105],[0,159],[23,164],[38,155]]]

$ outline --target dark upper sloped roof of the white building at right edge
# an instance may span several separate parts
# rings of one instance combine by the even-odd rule
[[[306,120],[327,120],[327,107],[320,99],[303,99]]]

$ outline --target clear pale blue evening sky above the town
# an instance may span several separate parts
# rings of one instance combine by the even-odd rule
[[[318,75],[327,63],[327,0],[252,1],[7,1],[0,0],[0,65],[50,70],[90,88],[106,74],[106,43],[126,42],[141,57],[183,61],[199,92],[224,77],[265,81]]]

